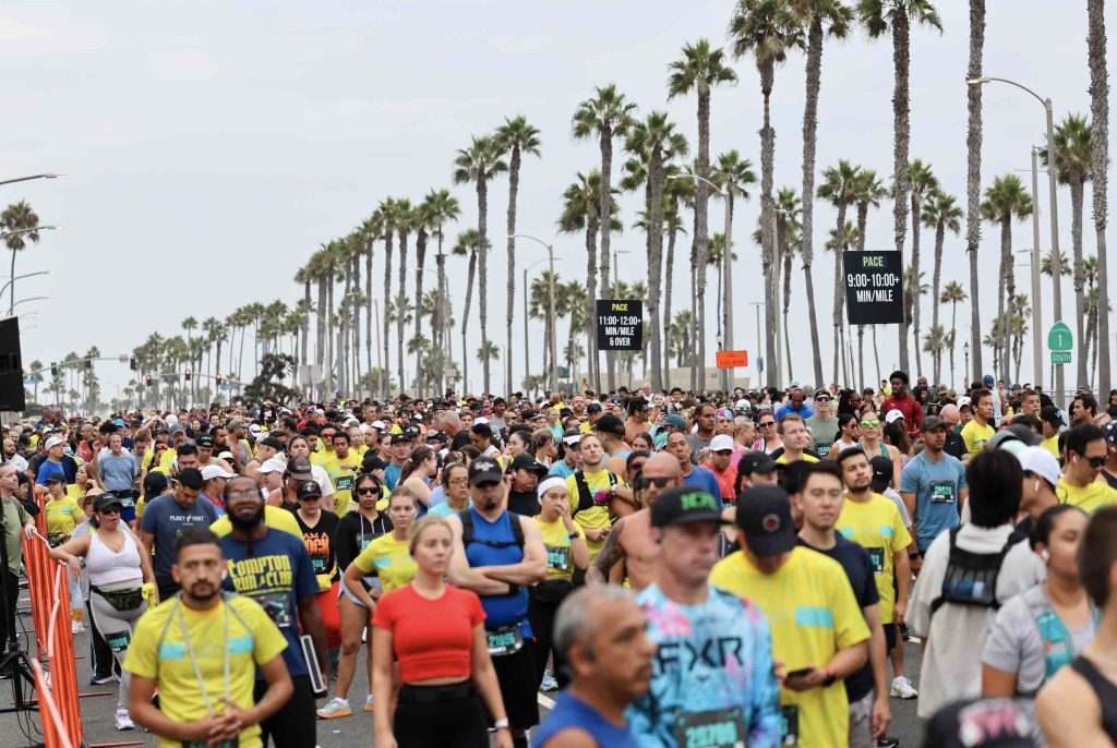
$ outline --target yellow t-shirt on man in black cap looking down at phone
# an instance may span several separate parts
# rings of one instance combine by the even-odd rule
[[[787,672],[824,667],[838,650],[869,639],[846,572],[809,548],[794,548],[775,574],[762,573],[738,550],[714,566],[709,581],[764,611],[772,630],[772,658]],[[849,740],[849,701],[842,681],[803,692],[781,688],[780,703],[799,710],[798,745],[822,748]]]

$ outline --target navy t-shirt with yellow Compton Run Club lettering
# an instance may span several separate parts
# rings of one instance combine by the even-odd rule
[[[226,535],[221,538],[221,550],[229,567],[225,588],[260,604],[287,640],[287,649],[283,651],[287,672],[292,677],[307,674],[298,642],[298,601],[317,595],[318,581],[303,539],[269,527],[264,537],[251,543]],[[258,669],[256,678],[262,678]]]

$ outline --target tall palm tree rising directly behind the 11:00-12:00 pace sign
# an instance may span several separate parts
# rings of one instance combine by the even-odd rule
[[[613,224],[613,138],[624,137],[628,128],[633,124],[636,104],[629,102],[624,94],[617,90],[617,84],[609,84],[604,88],[594,87],[593,98],[588,98],[577,105],[573,118],[573,134],[577,140],[589,140],[596,136],[601,147],[601,189],[598,194],[598,229],[601,230],[601,293],[605,297],[610,295],[609,277],[609,227]],[[604,227],[602,229],[602,227]],[[591,272],[594,269],[591,268]],[[592,304],[593,289],[590,289]],[[590,325],[595,326],[595,315],[589,311]],[[601,372],[598,363],[598,336],[596,328],[590,330],[590,362],[591,378],[594,387],[601,390]],[[605,357],[609,371],[609,387],[615,386],[615,371],[612,356]]]

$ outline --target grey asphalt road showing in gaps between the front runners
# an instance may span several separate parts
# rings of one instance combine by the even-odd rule
[[[27,604],[27,593],[23,591],[20,600],[21,610],[26,611]],[[22,615],[20,621],[21,624],[17,623],[17,626],[22,625],[27,630],[31,629],[31,618],[29,615]],[[76,640],[75,651],[78,655],[78,693],[90,694],[83,696],[82,698],[82,717],[85,725],[86,741],[90,746],[96,746],[98,744],[120,745],[124,741],[136,741],[135,745],[151,746],[154,748],[156,746],[154,736],[142,729],[132,732],[116,731],[113,723],[113,715],[116,708],[116,684],[89,684],[89,678],[92,677],[88,656],[89,634],[77,634]],[[372,715],[366,715],[363,711],[360,711],[360,706],[364,703],[364,698],[369,692],[367,682],[364,677],[364,652],[365,650],[362,648],[360,662],[356,668],[357,677],[354,678],[353,687],[350,689],[350,703],[354,707],[354,715],[352,717],[341,719],[319,720],[318,746],[321,746],[321,748],[356,748],[359,746],[361,748],[367,748],[373,745]],[[908,678],[911,679],[916,689],[919,688],[918,675],[920,661],[922,653],[919,645],[908,643],[905,668],[907,670]],[[6,703],[11,703],[12,699],[9,690],[9,683],[10,681],[0,681],[0,693],[2,693],[0,698],[2,698]],[[554,694],[552,693],[550,696],[553,697]],[[551,703],[548,696],[542,694],[540,702],[541,715],[546,713],[546,709]],[[889,729],[889,735],[899,738],[901,746],[920,746],[923,741],[923,725],[915,713],[916,701],[901,701],[899,699],[892,699],[891,706],[894,727]],[[23,728],[27,726],[30,726],[31,739],[28,739],[23,732]],[[41,745],[40,731],[41,728],[39,726],[38,715],[32,715],[30,719],[15,719],[10,716],[4,716],[0,719],[0,746],[3,748],[25,748],[27,746]]]

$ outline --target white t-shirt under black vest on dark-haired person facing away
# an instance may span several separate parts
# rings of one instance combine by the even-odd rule
[[[995,554],[1012,531],[1012,525],[993,529],[963,525],[957,546],[972,553]],[[992,607],[946,604],[932,616],[930,604],[942,595],[949,550],[949,533],[943,533],[927,547],[908,605],[908,629],[927,640],[919,673],[918,715],[924,719],[951,701],[981,696],[982,650],[990,622],[996,615]],[[1047,568],[1040,557],[1027,540],[1021,540],[1012,546],[1001,565],[996,598],[1003,604],[1046,576]]]

